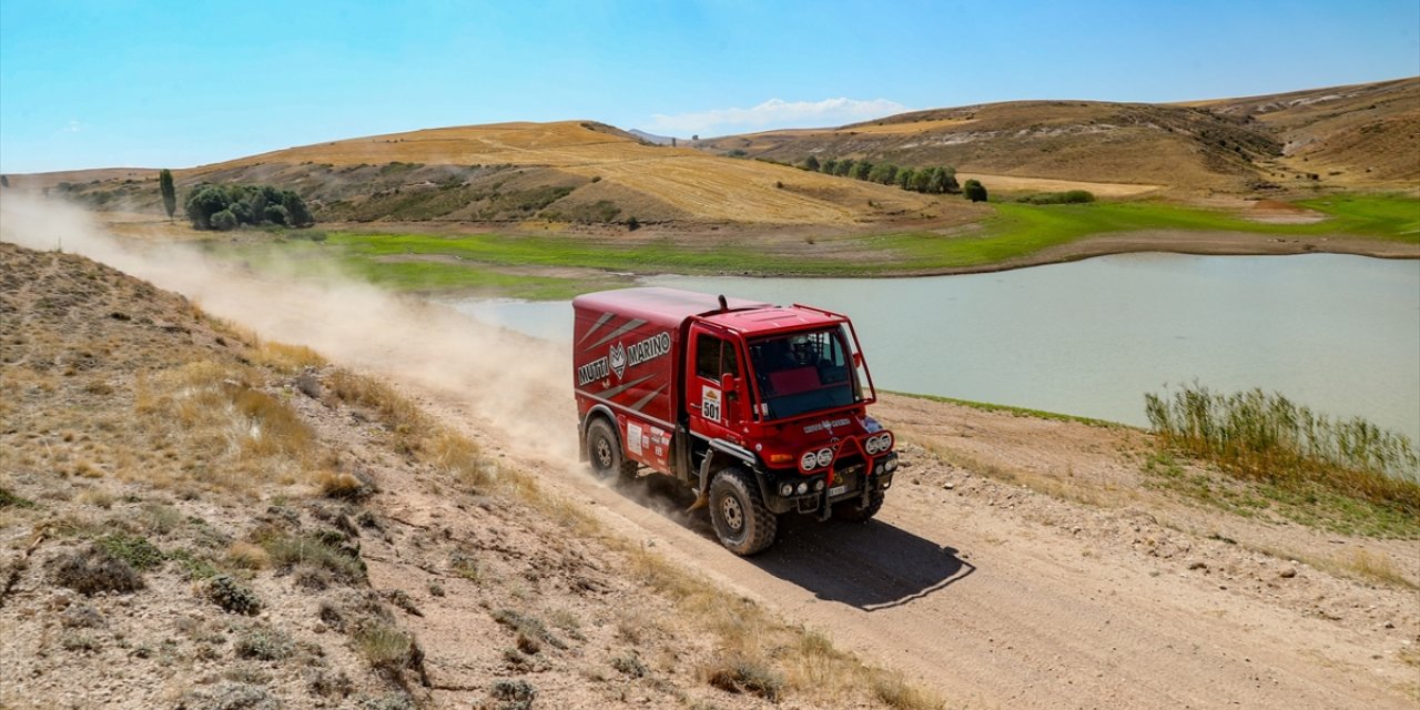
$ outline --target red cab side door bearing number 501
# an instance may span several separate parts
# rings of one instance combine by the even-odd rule
[[[736,341],[694,328],[690,335],[692,362],[686,368],[686,408],[690,430],[711,439],[740,442],[738,417],[746,410],[744,368]],[[733,389],[726,390],[726,375]]]

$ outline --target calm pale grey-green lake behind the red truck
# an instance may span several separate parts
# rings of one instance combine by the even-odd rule
[[[879,389],[1146,425],[1145,392],[1262,388],[1420,440],[1420,261],[1120,254],[923,278],[653,277],[846,312]],[[567,342],[567,301],[456,308]]]

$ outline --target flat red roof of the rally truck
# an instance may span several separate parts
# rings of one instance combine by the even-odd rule
[[[692,315],[700,315],[741,334],[804,329],[843,322],[842,317],[811,308],[787,308],[746,298],[726,298],[728,310],[721,312],[719,295],[665,287],[598,291],[574,298],[572,305],[588,311],[615,312],[657,325],[679,325]]]

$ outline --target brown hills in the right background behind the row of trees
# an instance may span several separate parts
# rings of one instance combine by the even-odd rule
[[[1410,187],[1420,179],[1420,78],[1189,104],[1014,101],[832,129],[700,141],[713,153],[809,155],[997,176],[1245,193]],[[1312,175],[1316,175],[1316,179]]]

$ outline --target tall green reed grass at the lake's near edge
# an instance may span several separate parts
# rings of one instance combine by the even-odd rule
[[[1281,487],[1321,486],[1420,517],[1420,456],[1409,437],[1365,419],[1332,419],[1279,393],[1190,385],[1145,395],[1167,449]]]

